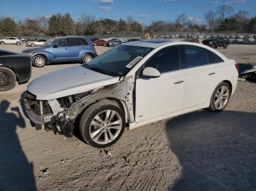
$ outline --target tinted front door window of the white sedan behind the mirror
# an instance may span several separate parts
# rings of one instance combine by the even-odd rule
[[[165,50],[160,50],[150,58],[145,67],[153,67],[160,73],[180,69],[178,47],[167,47]]]

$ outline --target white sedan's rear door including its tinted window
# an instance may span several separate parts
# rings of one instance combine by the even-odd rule
[[[208,64],[208,53],[203,47],[185,45],[182,58],[186,67],[184,109],[189,109],[208,101],[213,92],[215,73]]]

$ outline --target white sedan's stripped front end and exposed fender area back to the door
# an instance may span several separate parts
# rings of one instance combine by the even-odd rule
[[[127,83],[129,88],[124,88]],[[104,98],[120,101],[126,111],[127,119],[129,122],[133,121],[133,87],[134,83],[131,81],[121,82],[53,100],[37,100],[36,95],[27,91],[23,94],[23,102],[26,113],[36,130],[53,130],[54,133],[63,133],[64,136],[71,137],[75,128],[75,119],[79,114],[89,105]]]

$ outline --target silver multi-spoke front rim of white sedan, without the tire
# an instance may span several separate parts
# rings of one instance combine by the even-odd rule
[[[97,144],[108,144],[121,132],[121,116],[113,110],[105,110],[91,120],[89,135]]]

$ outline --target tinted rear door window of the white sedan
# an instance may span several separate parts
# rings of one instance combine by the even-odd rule
[[[192,45],[185,46],[187,69],[208,64],[207,50]]]

